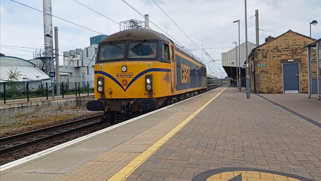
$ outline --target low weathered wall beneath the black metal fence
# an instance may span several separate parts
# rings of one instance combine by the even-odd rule
[[[55,111],[64,107],[83,106],[86,107],[88,101],[95,99],[94,95],[80,96],[73,98],[30,101],[24,103],[9,103],[0,105],[0,116],[14,116],[18,113],[26,114],[30,112]]]

